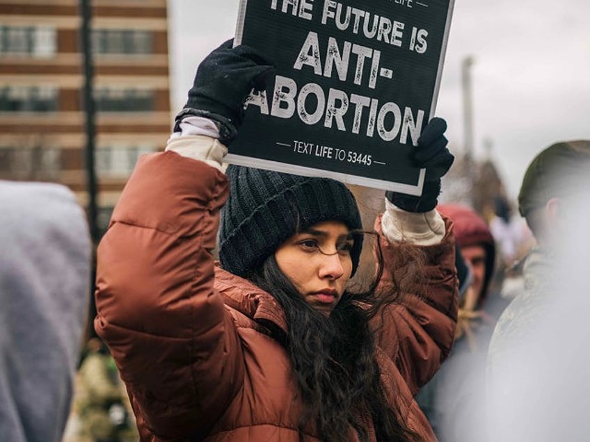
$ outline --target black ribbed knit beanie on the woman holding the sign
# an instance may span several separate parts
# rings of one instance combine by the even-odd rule
[[[340,181],[299,177],[230,165],[230,197],[221,211],[221,266],[244,277],[296,233],[318,222],[337,220],[362,229],[358,206]],[[352,275],[358,267],[362,235],[351,250]]]

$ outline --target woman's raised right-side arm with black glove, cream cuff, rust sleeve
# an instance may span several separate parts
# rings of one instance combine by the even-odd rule
[[[385,213],[376,220],[385,261],[383,287],[402,293],[399,302],[375,319],[374,327],[378,345],[396,363],[413,394],[448,356],[456,327],[452,222],[435,208],[440,178],[454,159],[445,130],[444,120],[434,118],[418,140],[414,161],[426,168],[422,195],[386,193]]]

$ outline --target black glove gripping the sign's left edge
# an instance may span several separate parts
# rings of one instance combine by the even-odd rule
[[[187,115],[207,117],[218,126],[220,140],[227,144],[236,136],[244,118],[244,100],[255,90],[266,88],[276,69],[255,49],[233,39],[212,51],[200,63],[189,99],[176,115],[174,131]]]

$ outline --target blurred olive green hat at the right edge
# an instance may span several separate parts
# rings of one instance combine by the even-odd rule
[[[551,198],[578,195],[589,187],[590,140],[557,142],[529,164],[518,194],[518,210],[526,217]]]

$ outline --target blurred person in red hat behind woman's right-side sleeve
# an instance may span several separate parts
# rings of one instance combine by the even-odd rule
[[[463,278],[467,284],[459,302],[456,342],[417,401],[441,442],[472,442],[485,434],[486,357],[495,319],[505,304],[497,293],[489,293],[496,245],[488,224],[463,204],[439,204],[438,211],[454,222],[463,258],[457,270],[461,276],[464,261],[468,277]]]

